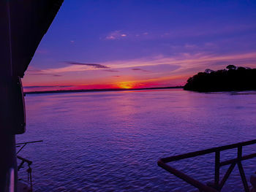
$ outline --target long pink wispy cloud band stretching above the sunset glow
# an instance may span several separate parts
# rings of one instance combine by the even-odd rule
[[[173,57],[165,57],[159,55],[154,58],[138,58],[127,61],[108,61],[100,64],[83,64],[77,62],[69,62],[69,66],[51,68],[51,69],[29,69],[32,74],[48,74],[61,75],[72,72],[85,72],[90,70],[98,70],[103,72],[118,72],[118,69],[131,69],[133,71],[143,72],[147,70],[157,69],[157,73],[168,74],[194,74],[195,72],[204,71],[206,68],[222,69],[227,64],[236,64],[238,66],[256,66],[255,53],[236,53],[230,55],[214,55],[210,53],[181,53]],[[91,66],[91,67],[89,67]],[[173,66],[173,68],[166,68]],[[174,67],[175,66],[175,67]],[[29,73],[30,74],[30,73]],[[159,74],[160,75],[160,74]]]

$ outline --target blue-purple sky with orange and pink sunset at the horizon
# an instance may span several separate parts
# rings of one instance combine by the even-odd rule
[[[256,68],[256,1],[64,0],[25,91],[184,85],[205,69]]]

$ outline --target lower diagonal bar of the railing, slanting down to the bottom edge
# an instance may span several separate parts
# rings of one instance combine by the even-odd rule
[[[163,169],[165,169],[167,172],[174,174],[176,177],[181,178],[181,180],[184,180],[190,185],[193,185],[195,188],[198,188],[200,191],[217,192],[217,190],[215,190],[214,188],[204,185],[203,183],[194,180],[192,177],[189,177],[187,174],[184,174],[183,172],[180,172],[177,169],[174,169],[173,167],[165,164],[161,159],[157,161],[157,164],[158,166],[161,166]]]

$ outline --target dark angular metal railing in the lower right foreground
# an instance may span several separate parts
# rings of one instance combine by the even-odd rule
[[[230,176],[231,172],[233,171],[236,164],[238,165],[238,169],[241,175],[241,180],[244,185],[244,191],[249,192],[249,186],[244,174],[244,169],[241,164],[241,161],[244,161],[249,158],[255,158],[256,153],[252,153],[250,155],[244,155],[242,156],[242,147],[246,145],[253,145],[256,143],[255,140],[247,141],[247,142],[238,142],[236,144],[232,145],[225,145],[222,147],[214,147],[207,150],[198,150],[192,153],[185,153],[182,155],[174,155],[167,158],[160,158],[157,164],[161,166],[163,169],[165,169],[167,172],[170,172],[174,174],[176,177],[181,178],[182,180],[186,181],[190,185],[193,185],[195,188],[198,188],[199,191],[209,191],[209,192],[217,192],[221,191],[223,186],[225,185],[225,182],[227,181],[227,178]],[[220,152],[223,150],[230,150],[237,148],[237,158],[233,158],[227,161],[220,161]],[[200,155],[206,155],[209,153],[215,153],[215,169],[214,169],[214,183],[211,184],[203,184],[199,181],[193,179],[192,177],[189,177],[187,174],[184,174],[183,172],[178,171],[177,169],[174,169],[172,166],[168,165],[167,163],[173,162],[173,161],[179,161],[181,159],[185,158],[192,158]],[[227,169],[227,172],[225,173],[224,177],[220,181],[219,179],[219,169],[222,166],[230,165],[230,167]],[[256,167],[255,167],[256,168]]]

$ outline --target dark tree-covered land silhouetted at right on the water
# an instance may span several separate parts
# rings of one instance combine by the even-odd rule
[[[256,69],[228,65],[226,69],[206,69],[189,77],[184,90],[198,92],[256,90]]]

